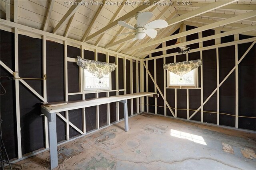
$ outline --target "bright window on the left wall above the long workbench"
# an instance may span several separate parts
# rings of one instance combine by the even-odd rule
[[[84,91],[87,90],[110,90],[111,73],[99,79],[87,70],[84,70]]]

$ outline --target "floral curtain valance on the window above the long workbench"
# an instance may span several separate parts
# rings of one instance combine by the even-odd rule
[[[80,56],[77,56],[76,64],[86,69],[88,72],[99,79],[116,69],[115,63],[105,63],[102,61],[82,59]]]

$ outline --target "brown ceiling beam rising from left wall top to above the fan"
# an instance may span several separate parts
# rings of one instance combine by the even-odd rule
[[[108,24],[107,26],[103,27],[102,29],[96,31],[95,33],[93,33],[92,35],[88,36],[84,42],[88,42],[90,41],[90,39],[97,37],[98,35],[101,35],[103,33],[105,33],[106,31],[108,31],[109,29],[115,27],[116,25],[118,25],[118,21],[125,21],[128,20],[130,18],[132,18],[138,11],[143,11],[146,10],[148,8],[150,8],[152,5],[154,5],[156,2],[158,2],[160,0],[155,0],[153,1],[149,1],[150,4],[145,4],[145,5],[141,5],[138,8],[135,8],[134,10],[128,12],[127,14],[125,14],[124,16],[118,18],[117,20],[113,21],[112,23]]]

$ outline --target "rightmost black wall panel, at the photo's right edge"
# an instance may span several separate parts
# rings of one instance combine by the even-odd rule
[[[241,38],[249,38],[240,36]],[[238,59],[244,55],[251,43],[238,45]],[[238,114],[240,116],[256,117],[256,47],[250,49],[238,65]],[[254,88],[253,88],[254,87]],[[256,119],[239,117],[238,127],[256,130]]]

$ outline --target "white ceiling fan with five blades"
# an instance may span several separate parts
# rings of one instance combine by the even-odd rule
[[[168,23],[164,20],[154,20],[154,21],[148,22],[150,18],[152,18],[152,16],[153,16],[152,12],[138,11],[138,13],[136,13],[135,15],[135,19],[137,19],[137,23],[134,26],[124,21],[118,21],[118,24],[134,30],[133,32],[128,32],[128,33],[135,33],[135,37],[132,41],[135,41],[136,39],[144,39],[146,35],[148,35],[150,38],[155,38],[157,35],[156,28],[166,28],[168,26]],[[124,35],[128,33],[122,33],[118,35]]]

